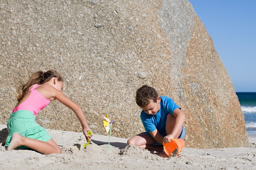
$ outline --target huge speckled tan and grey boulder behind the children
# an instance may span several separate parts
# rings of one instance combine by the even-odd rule
[[[187,0],[3,0],[0,45],[0,124],[16,105],[14,78],[26,81],[27,66],[61,73],[64,94],[81,106],[96,134],[106,134],[106,113],[113,136],[144,131],[135,92],[148,84],[182,107],[186,147],[249,146],[232,82]],[[37,122],[81,131],[58,101]]]

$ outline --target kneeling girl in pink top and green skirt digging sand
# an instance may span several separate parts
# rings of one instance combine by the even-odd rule
[[[42,154],[62,153],[48,132],[35,121],[37,113],[56,99],[75,112],[86,140],[91,138],[92,135],[87,135],[91,129],[82,109],[61,92],[62,87],[62,76],[55,70],[37,71],[19,87],[18,103],[7,121],[6,150],[19,147],[31,148]]]

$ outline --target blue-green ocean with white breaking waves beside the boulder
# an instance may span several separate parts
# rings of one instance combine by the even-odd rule
[[[244,113],[246,131],[256,135],[256,92],[236,92]]]

